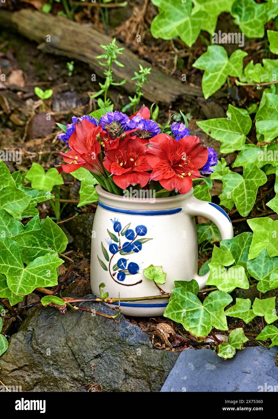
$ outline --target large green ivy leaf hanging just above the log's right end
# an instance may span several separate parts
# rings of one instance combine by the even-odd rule
[[[221,88],[228,75],[239,77],[242,72],[242,59],[246,52],[237,49],[228,57],[221,45],[209,45],[207,51],[193,64],[199,70],[205,70],[202,78],[202,90],[205,99]]]

